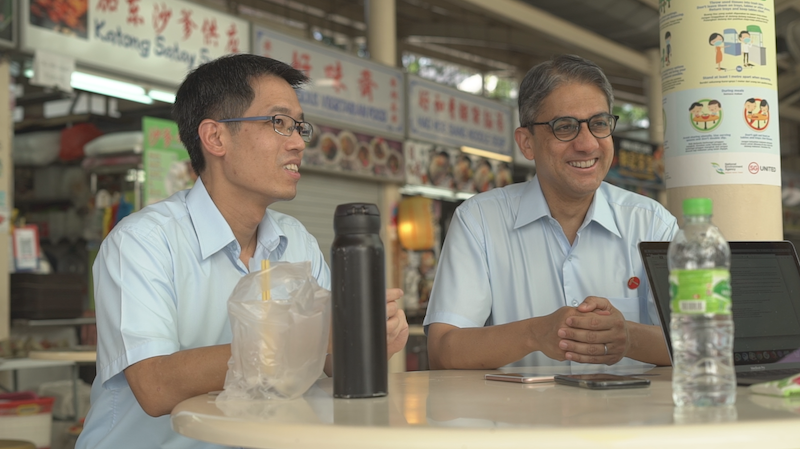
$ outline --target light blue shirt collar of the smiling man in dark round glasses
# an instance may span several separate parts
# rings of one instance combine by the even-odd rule
[[[533,223],[542,217],[552,217],[550,207],[547,205],[544,192],[542,192],[542,186],[539,184],[538,176],[534,176],[528,182],[517,207],[517,219],[514,221],[514,229]],[[601,188],[594,192],[592,204],[586,212],[586,218],[581,228],[586,227],[592,221],[596,221],[617,237],[622,237],[617,227],[617,222],[614,220],[614,214],[611,212],[611,206],[608,205],[608,198],[602,185]]]

